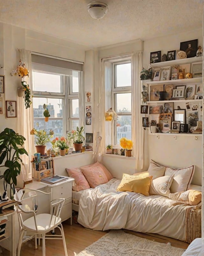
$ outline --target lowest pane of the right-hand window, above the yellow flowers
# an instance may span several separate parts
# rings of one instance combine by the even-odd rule
[[[119,116],[117,119],[117,144],[120,144],[120,139],[126,137],[131,140],[131,116],[123,115]]]

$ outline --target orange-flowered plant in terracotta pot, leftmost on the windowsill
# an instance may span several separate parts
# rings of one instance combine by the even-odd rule
[[[37,127],[39,127],[39,123],[36,123]],[[31,135],[36,136],[35,140],[35,148],[37,153],[40,153],[41,155],[45,155],[45,148],[46,148],[46,143],[50,142],[50,139],[54,135],[54,131],[50,130],[49,133],[46,133],[45,130],[36,130],[33,128],[30,132]]]

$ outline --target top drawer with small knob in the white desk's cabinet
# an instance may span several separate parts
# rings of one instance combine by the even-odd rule
[[[71,198],[71,182],[68,183],[63,183],[62,185],[58,185],[56,187],[52,188],[52,198],[53,200],[57,199],[57,198]]]

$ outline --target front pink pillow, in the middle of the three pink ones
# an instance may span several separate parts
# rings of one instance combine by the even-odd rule
[[[93,188],[108,182],[106,174],[100,166],[81,168],[81,171]]]

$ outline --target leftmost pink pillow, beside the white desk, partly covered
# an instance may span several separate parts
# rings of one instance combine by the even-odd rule
[[[68,172],[69,177],[75,179],[75,183],[77,184],[76,186],[72,187],[73,190],[80,191],[87,188],[91,188],[89,186],[88,181],[84,177],[84,174],[81,172],[79,168],[66,168],[66,171]]]

